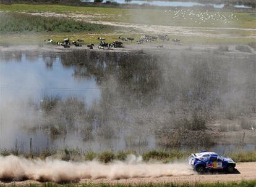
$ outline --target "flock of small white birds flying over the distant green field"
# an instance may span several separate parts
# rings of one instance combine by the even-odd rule
[[[228,24],[231,23],[233,20],[238,20],[238,17],[236,14],[222,14],[221,12],[209,12],[208,10],[205,10],[204,12],[194,12],[194,10],[190,9],[179,9],[177,8],[175,10],[164,10],[164,14],[173,14],[174,19],[180,19],[180,20],[190,20],[191,22],[194,22],[194,24],[211,24],[215,25],[216,23],[224,23]]]

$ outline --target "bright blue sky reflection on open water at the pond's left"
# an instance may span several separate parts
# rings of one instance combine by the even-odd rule
[[[44,95],[77,95],[88,103],[100,97],[95,78],[74,79],[75,68],[63,66],[58,56],[14,55],[1,62],[1,94],[17,98],[24,94],[33,100]],[[12,90],[12,91],[10,91]]]

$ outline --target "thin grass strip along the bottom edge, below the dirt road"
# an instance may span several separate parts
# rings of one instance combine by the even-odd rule
[[[5,187],[7,185],[1,184],[0,187]],[[9,186],[9,185],[8,185]],[[44,183],[42,184],[27,184],[27,185],[17,185],[12,184],[12,187],[255,187],[256,180],[241,181],[241,182],[227,182],[227,183],[144,183],[140,185],[132,184],[106,184],[106,183],[67,183],[67,184],[56,184],[56,183]]]

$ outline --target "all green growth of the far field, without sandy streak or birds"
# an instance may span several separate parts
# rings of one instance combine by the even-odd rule
[[[143,31],[137,31],[131,28],[113,27],[105,25],[96,25],[74,21],[69,18],[41,17],[35,15],[14,14],[11,12],[56,12],[93,15],[87,20],[108,21],[108,22],[129,22],[143,23],[148,25],[173,25],[173,26],[197,26],[190,28],[191,33],[199,33],[198,36],[186,36],[179,34],[169,34],[169,38],[179,38],[182,44],[249,44],[256,42],[256,31],[250,30],[216,30],[211,29],[213,25],[204,23],[197,25],[190,20],[174,19],[173,12],[164,14],[164,10],[148,9],[117,9],[111,7],[77,7],[61,5],[30,5],[30,4],[12,4],[11,6],[2,5],[0,10],[10,11],[1,13],[0,17],[0,45],[11,46],[19,44],[43,45],[45,39],[62,41],[64,38],[84,39],[84,44],[98,44],[98,36],[106,38],[106,42],[118,40],[119,36],[126,36],[139,39],[143,34],[150,34]],[[199,12],[200,10],[195,10]],[[212,12],[214,13],[214,12]],[[231,12],[221,12],[229,15]],[[239,27],[256,28],[256,15],[246,12],[233,12],[237,14],[239,20],[234,20],[231,25],[215,24],[215,27]],[[210,25],[209,25],[210,24]],[[209,26],[210,28],[204,28]],[[200,33],[203,33],[200,35]],[[204,35],[206,34],[206,35]],[[207,36],[208,34],[215,34]],[[225,36],[228,34],[228,36]],[[17,39],[19,38],[19,39]],[[126,42],[127,44],[135,44]],[[155,42],[158,44],[159,42]],[[172,41],[166,42],[173,44]]]

